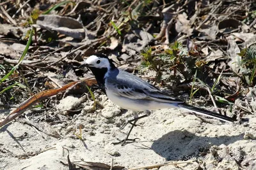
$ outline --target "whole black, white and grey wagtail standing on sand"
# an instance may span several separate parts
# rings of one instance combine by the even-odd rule
[[[127,110],[134,112],[145,111],[147,113],[128,121],[132,124],[132,127],[127,134],[127,138],[122,141],[124,143],[127,140],[134,141],[134,139],[128,139],[132,128],[138,119],[147,117],[150,110],[182,108],[206,117],[217,118],[225,122],[234,122],[233,118],[186,104],[184,101],[166,94],[138,76],[118,69],[113,64],[113,60],[108,59],[106,55],[91,55],[80,67],[83,66],[92,71],[100,89],[113,103]]]

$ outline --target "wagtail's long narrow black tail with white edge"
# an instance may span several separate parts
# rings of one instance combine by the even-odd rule
[[[212,111],[207,111],[207,110],[204,110],[204,109],[201,109],[201,108],[196,108],[196,107],[191,106],[191,105],[186,104],[186,103],[180,103],[180,104],[177,104],[177,105],[179,106],[179,108],[182,108],[182,109],[188,110],[188,111],[192,111],[193,113],[196,113],[198,115],[217,118],[217,119],[223,120],[225,122],[234,122],[234,121],[236,121],[234,118],[227,117],[225,115],[220,115],[218,113],[214,113]]]

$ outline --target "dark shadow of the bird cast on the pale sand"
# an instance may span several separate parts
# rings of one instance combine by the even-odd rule
[[[154,141],[151,149],[166,160],[186,160],[186,157],[198,156],[212,145],[228,145],[243,139],[243,134],[237,136],[196,136],[188,131],[175,130],[164,134]]]

